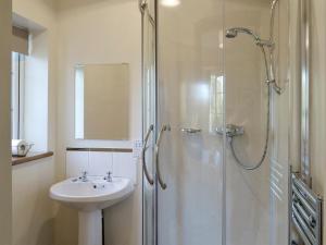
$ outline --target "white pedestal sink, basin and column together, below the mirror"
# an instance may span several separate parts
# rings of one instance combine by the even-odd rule
[[[108,182],[103,176],[67,179],[50,188],[52,199],[78,210],[79,245],[102,245],[102,209],[108,208],[134,191],[134,184],[125,177],[113,177]]]

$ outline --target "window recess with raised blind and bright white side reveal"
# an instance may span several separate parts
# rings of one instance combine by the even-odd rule
[[[23,26],[29,22],[21,22]],[[48,149],[49,34],[46,29],[12,28],[12,138]],[[37,25],[35,25],[36,27]]]

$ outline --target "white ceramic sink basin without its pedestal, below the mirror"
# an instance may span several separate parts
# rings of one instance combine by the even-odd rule
[[[79,211],[92,211],[123,200],[133,191],[134,185],[126,177],[112,177],[108,182],[103,176],[88,176],[86,182],[72,177],[52,185],[50,196]]]

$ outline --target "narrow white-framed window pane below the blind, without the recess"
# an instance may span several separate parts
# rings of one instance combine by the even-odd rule
[[[23,137],[25,56],[12,52],[11,71],[11,137]]]

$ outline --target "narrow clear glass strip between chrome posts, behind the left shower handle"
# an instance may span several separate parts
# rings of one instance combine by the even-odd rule
[[[142,132],[143,137],[149,128],[155,125],[155,25],[153,23],[153,1],[142,15]],[[145,138],[143,138],[145,139]],[[151,131],[146,150],[146,167],[150,177],[154,176],[155,134]],[[143,245],[153,245],[155,241],[155,196],[154,187],[143,175]]]

